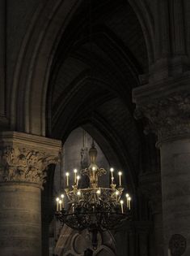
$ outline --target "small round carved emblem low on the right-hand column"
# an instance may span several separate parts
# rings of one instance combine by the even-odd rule
[[[184,254],[186,250],[186,239],[184,236],[175,234],[171,236],[169,241],[169,249],[171,249],[171,256],[180,256]]]

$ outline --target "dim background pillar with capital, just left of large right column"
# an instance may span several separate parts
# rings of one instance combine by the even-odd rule
[[[150,201],[154,221],[154,249],[156,256],[163,256],[163,206],[160,172],[139,176],[139,187]]]

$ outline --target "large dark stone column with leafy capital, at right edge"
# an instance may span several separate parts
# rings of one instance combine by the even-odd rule
[[[164,255],[190,255],[189,78],[147,85],[133,93],[137,113],[149,119],[161,153]],[[170,250],[170,252],[169,252]]]

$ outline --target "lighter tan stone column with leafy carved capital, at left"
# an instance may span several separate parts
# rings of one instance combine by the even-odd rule
[[[46,167],[57,163],[60,141],[0,133],[0,255],[41,255],[41,195]]]

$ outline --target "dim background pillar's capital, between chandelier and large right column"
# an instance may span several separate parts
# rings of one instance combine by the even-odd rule
[[[149,172],[139,176],[139,188],[150,201],[154,214],[162,212],[162,186],[160,172]]]

